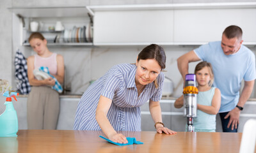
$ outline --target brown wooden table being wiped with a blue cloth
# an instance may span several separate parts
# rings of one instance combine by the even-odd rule
[[[143,145],[120,147],[106,142],[102,131],[19,130],[17,137],[0,137],[0,152],[239,152],[242,133],[159,134],[122,132]]]

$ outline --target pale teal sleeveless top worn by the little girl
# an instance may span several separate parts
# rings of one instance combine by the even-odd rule
[[[196,103],[200,105],[211,106],[215,89],[216,87],[211,87],[209,91],[198,92],[196,97]],[[195,126],[195,132],[215,132],[216,115],[212,115],[209,113],[202,112],[201,110],[197,110],[193,124]],[[186,131],[188,131],[187,125]]]

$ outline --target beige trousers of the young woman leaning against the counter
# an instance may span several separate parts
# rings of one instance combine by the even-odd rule
[[[60,112],[57,91],[48,86],[31,87],[28,95],[28,129],[56,129]]]

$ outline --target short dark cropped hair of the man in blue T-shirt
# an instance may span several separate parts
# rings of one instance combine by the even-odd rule
[[[228,39],[237,38],[237,40],[242,40],[243,31],[237,25],[230,25],[226,27],[223,34],[225,34]]]

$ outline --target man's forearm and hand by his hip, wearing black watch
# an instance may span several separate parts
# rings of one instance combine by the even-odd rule
[[[252,94],[252,90],[253,90],[253,85],[254,85],[254,80],[248,81],[248,82],[244,81],[244,88],[239,98],[239,101],[237,103],[238,106],[243,107],[245,102],[250,98],[250,95]],[[224,117],[224,119],[227,119],[230,116],[230,120],[228,122],[227,128],[229,128],[230,124],[232,124],[231,129],[233,130],[234,127],[237,129],[237,124],[239,124],[240,112],[241,110],[235,107]]]

